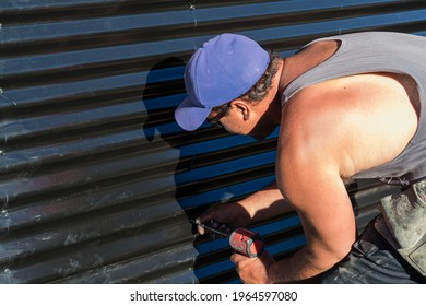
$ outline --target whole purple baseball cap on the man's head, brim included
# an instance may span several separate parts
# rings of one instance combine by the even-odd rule
[[[188,97],[175,111],[178,125],[187,131],[198,129],[213,107],[250,90],[269,61],[269,54],[246,36],[225,33],[204,43],[185,69]]]

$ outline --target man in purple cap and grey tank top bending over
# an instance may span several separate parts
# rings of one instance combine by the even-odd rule
[[[199,217],[234,228],[298,212],[307,244],[293,256],[233,255],[245,283],[425,281],[426,38],[341,35],[282,59],[223,34],[194,52],[185,81],[175,117],[186,130],[206,119],[262,139],[280,126],[276,185]],[[358,238],[344,185],[356,178],[405,188],[382,200],[382,214]]]

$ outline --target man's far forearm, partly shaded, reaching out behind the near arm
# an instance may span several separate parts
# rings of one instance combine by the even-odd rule
[[[238,201],[238,203],[247,210],[251,222],[262,221],[294,210],[283,198],[275,183]]]

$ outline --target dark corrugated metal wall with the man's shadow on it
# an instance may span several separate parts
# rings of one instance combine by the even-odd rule
[[[257,143],[174,122],[184,64],[222,32],[287,56],[356,31],[426,35],[426,1],[0,2],[0,283],[233,283],[224,239],[194,239],[210,204],[274,179]],[[353,185],[359,227],[392,189]],[[255,226],[277,257],[295,214]]]

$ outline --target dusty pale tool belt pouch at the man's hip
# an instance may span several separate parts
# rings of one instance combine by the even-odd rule
[[[426,180],[398,196],[381,199],[376,229],[423,276],[426,276]]]

